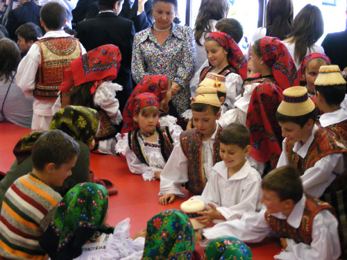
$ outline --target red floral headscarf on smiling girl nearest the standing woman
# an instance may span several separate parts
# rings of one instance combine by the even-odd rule
[[[237,73],[239,73],[242,80],[247,78],[247,60],[235,40],[226,33],[220,32],[210,33],[206,39],[208,38],[216,40],[224,49],[226,49],[226,51],[228,51],[227,58],[229,64],[237,71]]]

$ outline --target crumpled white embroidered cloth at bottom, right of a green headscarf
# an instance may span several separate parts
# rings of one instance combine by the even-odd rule
[[[75,260],[140,260],[144,251],[143,237],[129,238],[130,219],[119,222],[113,234],[101,234],[99,242],[87,243]]]

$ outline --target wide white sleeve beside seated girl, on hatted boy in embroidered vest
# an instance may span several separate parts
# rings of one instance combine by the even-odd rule
[[[180,189],[181,184],[188,181],[188,163],[189,160],[183,153],[178,143],[167,160],[160,174],[159,196],[174,194],[185,197],[185,193]]]

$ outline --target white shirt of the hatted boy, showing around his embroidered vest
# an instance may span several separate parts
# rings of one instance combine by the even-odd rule
[[[208,141],[203,141],[203,154],[196,155],[202,156],[201,162],[203,162],[203,168],[205,171],[205,177],[208,180],[213,166],[213,144],[217,135],[218,127],[214,131],[212,137]],[[185,197],[185,193],[180,189],[181,184],[188,181],[188,164],[189,159],[183,153],[180,143],[178,143],[172,151],[167,164],[162,169],[160,175],[160,191],[159,196],[165,194],[174,194],[176,196]]]

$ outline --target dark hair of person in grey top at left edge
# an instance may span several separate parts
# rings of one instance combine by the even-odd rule
[[[0,80],[10,80],[12,72],[17,70],[21,53],[15,42],[8,38],[0,40]]]

